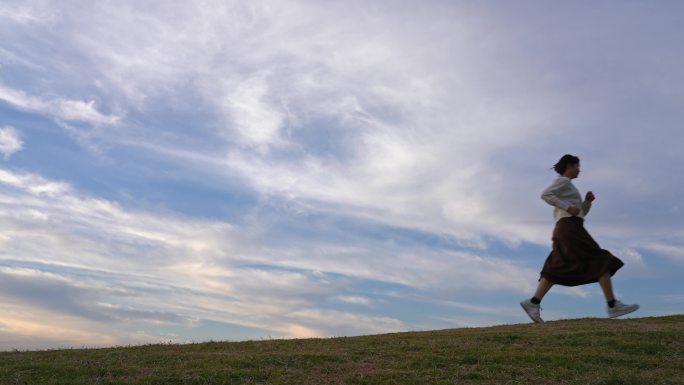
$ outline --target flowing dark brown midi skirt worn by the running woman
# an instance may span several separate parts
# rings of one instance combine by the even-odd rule
[[[605,273],[612,276],[623,265],[610,251],[599,247],[584,228],[584,219],[562,218],[553,230],[553,250],[544,262],[541,277],[558,285],[578,286],[598,282]]]

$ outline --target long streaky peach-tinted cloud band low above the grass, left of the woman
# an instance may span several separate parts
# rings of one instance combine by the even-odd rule
[[[93,344],[131,341],[139,331],[134,325],[192,328],[202,320],[276,336],[397,331],[405,324],[368,313],[376,300],[351,294],[357,285],[528,291],[526,276],[533,275],[467,253],[315,239],[287,246],[269,241],[268,227],[134,211],[6,169],[0,170],[0,223],[2,302],[70,319],[61,327],[73,328],[67,335],[74,341],[89,325],[83,330],[103,335]],[[321,309],[335,299],[366,306]],[[0,316],[10,328],[13,320]]]

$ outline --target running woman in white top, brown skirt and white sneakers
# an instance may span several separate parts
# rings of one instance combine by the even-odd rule
[[[613,294],[610,277],[622,267],[622,261],[608,250],[601,249],[584,228],[584,217],[591,209],[594,194],[587,192],[582,201],[582,196],[572,184],[572,179],[580,173],[579,158],[563,155],[553,168],[560,176],[541,195],[546,203],[555,207],[553,250],[542,268],[537,291],[520,305],[534,322],[544,322],[539,304],[553,285],[579,286],[598,282],[608,301],[608,317],[615,318],[637,310],[639,305],[625,305]]]

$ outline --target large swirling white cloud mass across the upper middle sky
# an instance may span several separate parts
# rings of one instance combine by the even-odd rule
[[[122,3],[65,9],[74,23],[61,28],[109,96],[125,96],[116,103],[192,106],[215,119],[212,141],[224,149],[193,149],[213,160],[191,167],[237,174],[259,194],[319,210],[472,242],[546,243],[543,221],[509,220],[531,210],[542,218],[543,205],[511,205],[501,194],[536,197],[547,181],[531,171],[514,178],[494,159],[515,157],[532,139],[553,142],[549,125],[567,120],[576,100],[539,76],[550,69],[529,61],[486,7],[358,7],[256,1],[150,12]],[[92,101],[71,107],[61,115],[107,120]],[[148,134],[125,137],[133,131]],[[168,137],[168,127],[154,126],[89,136],[148,143],[139,148]],[[157,155],[187,152],[186,142],[164,143],[172,150]]]

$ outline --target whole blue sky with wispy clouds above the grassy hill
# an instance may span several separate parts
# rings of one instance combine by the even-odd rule
[[[4,0],[0,350],[530,322],[566,153],[617,297],[681,313],[683,40],[665,0]]]

